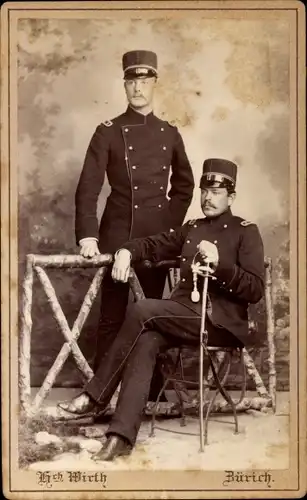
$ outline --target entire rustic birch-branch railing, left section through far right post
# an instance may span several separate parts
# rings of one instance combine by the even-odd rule
[[[20,334],[20,351],[19,351],[19,390],[21,409],[29,417],[34,416],[40,409],[43,400],[49,394],[56,377],[63,368],[63,365],[72,353],[78,369],[82,372],[86,380],[90,380],[93,376],[93,371],[88,362],[83,356],[79,346],[78,338],[80,337],[83,325],[90,313],[94,300],[102,285],[104,275],[108,266],[112,263],[113,257],[110,254],[98,255],[92,259],[86,259],[79,255],[34,255],[27,256],[26,272],[23,281],[23,296],[22,296],[22,311],[21,311],[21,334]],[[270,259],[266,259],[266,309],[267,309],[267,336],[269,348],[269,391],[267,391],[260,374],[258,373],[253,359],[244,349],[244,363],[250,377],[254,380],[258,395],[266,400],[269,399],[275,409],[275,392],[276,392],[276,370],[275,370],[275,344],[274,344],[274,311],[272,298],[272,263]],[[144,261],[144,267],[167,267],[174,270],[174,280],[178,281],[179,260],[162,261],[152,263]],[[70,329],[62,308],[56,296],[55,289],[46,273],[46,269],[84,269],[97,268],[92,283],[83,299],[78,316]],[[42,386],[37,392],[34,400],[31,400],[31,380],[30,380],[30,365],[31,365],[31,332],[32,332],[32,298],[33,298],[33,279],[34,273],[42,284],[46,293],[47,301],[50,304],[53,315],[62,332],[65,342],[57,355],[52,367],[48,371]],[[169,283],[170,284],[170,283]],[[136,301],[145,298],[139,280],[131,269],[129,276],[129,285],[133,292]],[[259,398],[258,398],[259,399]],[[259,401],[258,401],[259,406]]]

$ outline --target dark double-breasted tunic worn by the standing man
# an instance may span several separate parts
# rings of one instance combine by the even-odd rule
[[[97,199],[106,174],[111,193],[99,227]],[[95,237],[101,252],[114,252],[131,238],[180,225],[193,189],[178,129],[153,113],[144,116],[128,107],[100,124],[89,144],[76,191],[77,242]]]

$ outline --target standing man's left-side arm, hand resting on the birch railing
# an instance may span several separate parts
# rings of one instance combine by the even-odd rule
[[[108,151],[107,127],[99,125],[87,149],[75,196],[76,241],[84,257],[93,257],[99,253],[97,200],[104,183]]]

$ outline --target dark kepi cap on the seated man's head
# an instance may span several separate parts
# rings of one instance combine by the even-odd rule
[[[226,187],[235,189],[237,181],[237,165],[221,158],[209,158],[203,163],[200,189],[206,187]]]

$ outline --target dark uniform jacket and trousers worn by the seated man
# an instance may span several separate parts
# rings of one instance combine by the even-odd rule
[[[123,323],[99,369],[85,390],[101,404],[112,397],[122,381],[116,411],[108,433],[136,440],[146,404],[157,354],[165,348],[197,345],[201,301],[193,303],[191,264],[202,240],[214,243],[219,263],[209,279],[206,328],[209,344],[242,346],[249,343],[247,310],[264,294],[264,253],[255,224],[222,215],[190,221],[174,232],[136,239],[124,245],[132,262],[141,259],[172,259],[181,255],[181,279],[170,299],[137,302]],[[199,292],[202,283],[199,281]]]

